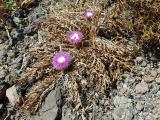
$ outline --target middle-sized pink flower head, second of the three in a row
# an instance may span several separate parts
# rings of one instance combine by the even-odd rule
[[[73,45],[78,45],[82,42],[83,33],[79,31],[69,32],[67,34],[67,40],[70,41]]]

